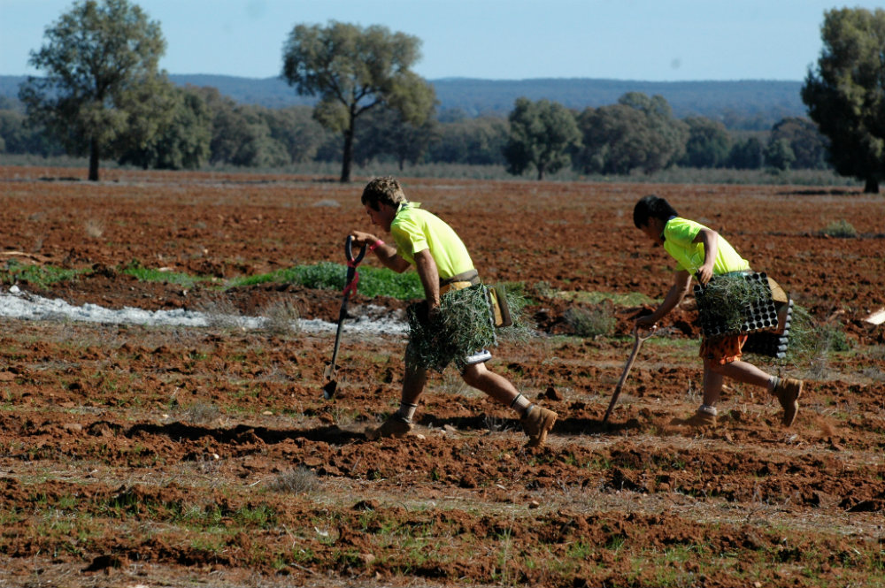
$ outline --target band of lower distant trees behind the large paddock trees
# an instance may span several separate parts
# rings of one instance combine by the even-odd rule
[[[174,88],[177,101],[173,124],[142,148],[126,149],[115,159],[144,169],[196,170],[206,166],[285,168],[308,162],[341,163],[342,141],[312,116],[310,106],[270,109],[235,103],[216,88]],[[531,145],[519,152],[520,128],[531,126],[532,109],[562,109],[560,123],[578,129],[563,145],[562,156],[574,169],[588,174],[628,175],[636,170],[656,172],[678,165],[692,168],[743,170],[827,169],[827,141],[807,118],[783,118],[765,133],[730,132],[721,122],[705,117],[660,118],[657,122],[629,101],[663,101],[660,96],[625,95],[618,104],[574,112],[550,101],[519,98],[510,118],[468,117],[443,111],[418,128],[401,125],[389,112],[367,116],[353,148],[353,162],[406,164],[502,165],[515,175],[529,168],[543,179],[562,164],[541,164],[530,157]],[[666,110],[666,101],[664,101]],[[669,135],[660,126],[672,127]],[[546,129],[535,144],[557,137]],[[670,136],[672,141],[666,141]],[[660,141],[660,139],[665,139]],[[508,147],[509,146],[509,147]],[[64,145],[41,127],[27,126],[20,103],[0,98],[0,153],[52,157],[66,153]],[[568,164],[565,163],[564,164]]]

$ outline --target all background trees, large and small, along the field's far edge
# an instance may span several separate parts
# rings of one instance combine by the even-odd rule
[[[518,98],[507,118],[437,112],[434,88],[412,72],[419,39],[381,26],[331,21],[297,25],[283,49],[282,77],[314,106],[269,109],[235,103],[216,88],[175,87],[158,59],[156,22],[127,0],[80,0],[47,27],[19,101],[0,98],[0,152],[89,156],[144,168],[501,164],[538,179],[567,166],[629,174],[684,167],[824,169],[865,181],[885,177],[885,11],[827,11],[824,50],[802,99],[810,118],[768,133],[729,131],[700,116],[675,118],[660,95],[629,92],[617,103],[573,111]],[[878,44],[877,44],[878,43]],[[872,49],[871,49],[872,48]]]

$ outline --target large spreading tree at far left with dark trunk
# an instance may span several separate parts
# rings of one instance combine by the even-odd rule
[[[165,40],[159,24],[127,0],[81,0],[46,28],[31,51],[19,90],[29,121],[45,126],[72,155],[89,155],[89,179],[102,157],[142,147],[165,125],[172,84],[158,72]]]

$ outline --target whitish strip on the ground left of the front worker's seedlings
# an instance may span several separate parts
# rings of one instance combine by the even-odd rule
[[[379,314],[373,311],[372,307],[367,309],[370,315],[377,316]],[[209,326],[211,322],[209,317],[196,310],[145,310],[132,307],[106,309],[97,304],[73,306],[58,298],[50,300],[49,298],[22,292],[18,286],[12,286],[8,293],[0,293],[0,317],[44,321],[73,320],[109,325],[200,327]],[[223,318],[226,319],[226,324],[237,325],[246,330],[261,329],[266,321],[265,317],[231,316]],[[212,317],[212,322],[217,323],[218,317]],[[302,332],[335,332],[337,326],[337,323],[330,323],[319,318],[298,320],[298,327]],[[349,319],[344,323],[344,330],[347,332],[375,335],[402,335],[407,331],[407,328],[407,325],[396,317],[378,317],[373,319],[369,316],[361,316]]]

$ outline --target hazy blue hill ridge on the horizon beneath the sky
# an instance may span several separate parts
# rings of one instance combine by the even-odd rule
[[[280,78],[241,78],[211,74],[171,74],[180,86],[218,88],[239,103],[281,108],[312,104],[312,96],[299,96],[295,88]],[[23,76],[0,76],[0,95],[15,97]],[[505,116],[512,111],[519,96],[548,100],[582,111],[618,101],[627,92],[662,95],[678,118],[699,115],[723,118],[728,112],[743,118],[773,121],[788,116],[805,116],[799,92],[800,81],[638,81],[596,80],[589,78],[550,78],[531,80],[477,80],[444,78],[428,80],[434,85],[440,110],[460,109],[469,116],[492,114]]]

